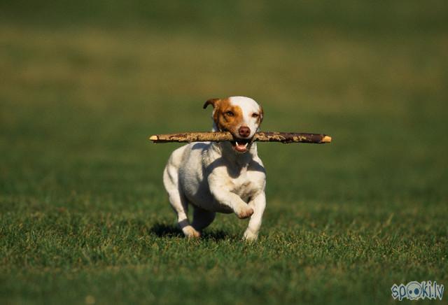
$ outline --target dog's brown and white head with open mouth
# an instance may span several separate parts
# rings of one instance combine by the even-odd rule
[[[246,152],[251,140],[258,131],[263,119],[260,105],[248,97],[228,97],[226,99],[209,99],[204,109],[212,105],[214,129],[220,132],[230,132],[235,141],[232,147],[237,152]]]

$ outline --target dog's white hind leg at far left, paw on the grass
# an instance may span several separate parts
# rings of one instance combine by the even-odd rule
[[[165,167],[165,171],[163,172],[163,183],[168,193],[169,203],[177,214],[179,228],[187,237],[199,237],[200,232],[197,232],[188,221],[188,201],[180,190],[179,175],[174,166],[167,164],[167,167]]]

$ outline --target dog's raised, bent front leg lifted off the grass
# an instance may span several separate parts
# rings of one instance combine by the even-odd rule
[[[226,187],[210,184],[210,192],[220,204],[232,208],[232,211],[237,214],[238,218],[248,218],[253,214],[253,208]]]

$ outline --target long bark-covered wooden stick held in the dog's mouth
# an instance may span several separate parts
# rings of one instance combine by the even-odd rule
[[[235,141],[230,132],[184,132],[181,134],[155,134],[149,138],[154,143],[167,142],[221,142]],[[331,136],[297,132],[257,132],[253,141],[281,143],[330,143]]]

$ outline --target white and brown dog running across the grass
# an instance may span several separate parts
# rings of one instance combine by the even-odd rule
[[[204,108],[209,105],[214,107],[213,131],[231,132],[235,141],[190,143],[174,150],[163,173],[169,202],[188,237],[199,237],[216,212],[233,212],[251,218],[244,239],[255,240],[266,206],[266,172],[251,140],[262,108],[248,97],[209,99]],[[191,225],[188,204],[194,208]]]

